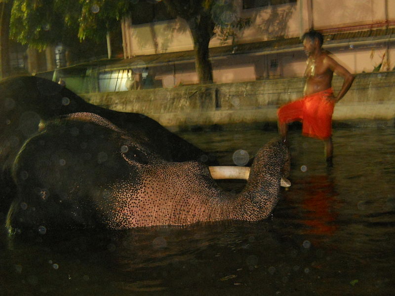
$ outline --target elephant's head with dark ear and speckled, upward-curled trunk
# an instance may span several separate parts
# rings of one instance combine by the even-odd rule
[[[281,142],[261,148],[239,194],[221,189],[208,166],[170,162],[145,139],[91,113],[47,122],[19,151],[9,229],[125,229],[267,218],[289,169]]]

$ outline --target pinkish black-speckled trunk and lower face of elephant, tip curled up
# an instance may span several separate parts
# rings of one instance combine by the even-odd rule
[[[116,222],[111,227],[265,219],[278,201],[287,156],[288,150],[280,142],[261,148],[251,166],[248,183],[238,195],[219,187],[208,167],[198,162],[141,166],[138,190],[129,188],[127,182],[112,186],[114,197],[106,199],[105,207],[111,213],[108,216]],[[128,196],[125,192],[133,194]],[[122,203],[114,202],[119,198]]]

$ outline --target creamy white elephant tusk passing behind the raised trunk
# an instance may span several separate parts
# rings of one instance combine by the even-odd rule
[[[242,166],[209,166],[211,177],[214,180],[224,179],[241,179],[248,180],[250,175],[250,167]],[[282,187],[291,186],[291,182],[285,177],[281,178]]]

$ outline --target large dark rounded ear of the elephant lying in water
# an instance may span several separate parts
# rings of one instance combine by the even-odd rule
[[[12,167],[18,197],[13,227],[88,227],[103,221],[97,201],[103,188],[125,178],[124,139],[91,122],[54,121],[29,139]]]

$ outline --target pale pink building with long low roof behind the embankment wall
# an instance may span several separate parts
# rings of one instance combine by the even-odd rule
[[[213,18],[222,22],[248,18],[251,24],[227,40],[211,38],[214,83],[303,76],[306,55],[300,37],[311,28],[323,33],[323,48],[351,73],[394,70],[394,0],[229,1],[234,11],[217,10]],[[186,21],[169,17],[161,1],[141,0],[135,5],[143,5],[139,9],[145,13],[121,20],[117,44],[122,46],[111,58],[64,67],[65,52],[54,47],[41,53],[29,49],[27,69],[54,81],[62,78],[77,93],[197,84]]]

